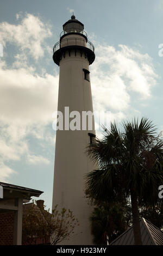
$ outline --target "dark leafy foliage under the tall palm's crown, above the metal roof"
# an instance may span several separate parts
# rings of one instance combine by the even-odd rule
[[[163,230],[163,214],[160,206],[141,206],[139,211],[140,217]],[[93,242],[95,245],[106,245],[106,236],[110,243],[132,225],[131,204],[109,206],[102,203],[96,206],[90,219]]]

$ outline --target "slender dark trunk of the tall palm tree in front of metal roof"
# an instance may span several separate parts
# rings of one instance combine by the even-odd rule
[[[135,245],[142,245],[137,196],[136,196],[136,193],[134,190],[131,190],[130,194],[131,194],[131,209],[132,209],[132,215],[133,215],[133,229],[134,229]]]

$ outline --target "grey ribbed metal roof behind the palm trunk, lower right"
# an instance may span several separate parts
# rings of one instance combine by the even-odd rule
[[[142,245],[163,245],[162,231],[145,218],[140,219],[140,231]],[[134,245],[133,225],[112,241],[110,245]]]

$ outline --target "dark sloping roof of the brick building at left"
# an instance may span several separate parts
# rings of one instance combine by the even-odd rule
[[[3,186],[4,190],[14,190],[14,191],[19,191],[23,193],[29,193],[30,196],[35,196],[35,197],[38,197],[40,196],[40,194],[43,193],[43,191],[40,191],[40,190],[33,190],[32,188],[21,187],[13,184],[4,183],[1,181],[0,181],[0,186]]]

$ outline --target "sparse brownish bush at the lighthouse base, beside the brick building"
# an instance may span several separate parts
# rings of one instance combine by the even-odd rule
[[[72,211],[62,208],[58,210],[56,205],[52,211],[38,208],[34,203],[23,205],[22,243],[25,245],[36,244],[37,240],[51,245],[69,239],[78,220]]]

